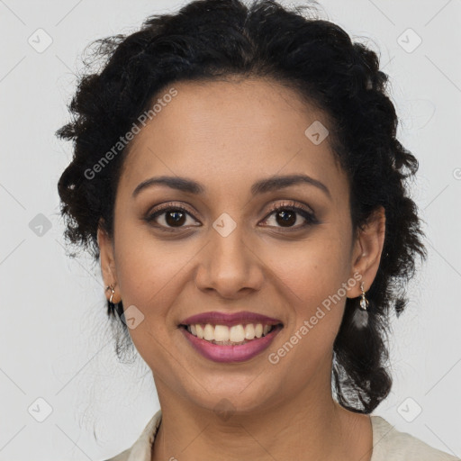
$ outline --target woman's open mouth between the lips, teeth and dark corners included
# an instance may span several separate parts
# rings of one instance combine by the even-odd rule
[[[194,323],[180,324],[195,338],[203,339],[218,346],[239,346],[255,339],[264,338],[273,330],[281,330],[283,323],[240,323],[231,327],[222,324]]]

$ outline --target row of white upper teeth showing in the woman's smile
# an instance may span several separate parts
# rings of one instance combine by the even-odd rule
[[[247,325],[233,325],[229,328],[227,325],[212,325],[210,323],[207,323],[203,327],[202,324],[197,323],[188,325],[187,330],[197,338],[207,341],[244,343],[245,340],[266,336],[272,330],[272,325],[249,323]]]

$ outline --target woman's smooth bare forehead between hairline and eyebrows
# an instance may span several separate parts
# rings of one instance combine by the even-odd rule
[[[305,132],[318,123],[327,129],[325,114],[294,90],[263,79],[173,87],[174,97],[162,99],[170,87],[156,96],[155,116],[131,141],[121,187],[158,175],[193,177],[215,193],[282,174],[304,173],[332,187],[344,180],[329,136],[314,143]]]

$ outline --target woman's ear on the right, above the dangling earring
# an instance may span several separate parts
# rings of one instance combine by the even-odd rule
[[[364,228],[357,230],[349,279],[358,280],[358,284],[348,288],[348,298],[357,298],[362,294],[362,282],[365,291],[373,284],[381,261],[384,235],[385,210],[383,206],[379,206],[368,218]]]

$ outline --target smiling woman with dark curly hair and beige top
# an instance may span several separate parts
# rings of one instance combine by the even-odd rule
[[[99,44],[62,213],[161,407],[111,459],[456,459],[371,415],[426,256],[375,52],[267,0]]]

